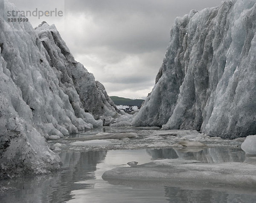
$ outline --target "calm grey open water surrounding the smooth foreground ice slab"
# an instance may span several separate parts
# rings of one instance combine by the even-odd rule
[[[227,192],[224,187],[196,187],[172,183],[142,181],[106,182],[100,177],[108,169],[129,161],[139,164],[152,159],[182,158],[219,163],[251,161],[255,157],[245,157],[241,149],[234,148],[175,148],[111,150],[99,152],[62,152],[63,171],[50,175],[16,178],[1,181],[4,186],[14,187],[8,193],[0,194],[1,203],[61,203],[61,202],[253,202],[255,195],[238,194],[241,190]],[[203,189],[202,189],[203,188]],[[222,190],[222,191],[221,191]],[[247,191],[243,191],[246,193]],[[79,199],[80,198],[80,199]]]

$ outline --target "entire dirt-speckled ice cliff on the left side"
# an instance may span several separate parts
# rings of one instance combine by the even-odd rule
[[[61,166],[51,135],[107,125],[119,117],[104,86],[76,62],[54,25],[7,22],[0,0],[0,177]]]

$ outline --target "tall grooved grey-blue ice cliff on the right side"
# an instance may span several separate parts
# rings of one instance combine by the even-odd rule
[[[256,0],[226,0],[178,17],[135,126],[256,134]]]

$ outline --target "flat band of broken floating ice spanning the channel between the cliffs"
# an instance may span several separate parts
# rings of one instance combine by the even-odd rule
[[[156,127],[157,128],[157,127]],[[101,149],[160,149],[177,147],[180,149],[191,150],[211,148],[211,147],[241,147],[245,138],[227,140],[220,137],[211,138],[207,135],[198,133],[196,130],[155,130],[154,127],[104,127],[113,130],[112,132],[99,133],[85,132],[75,137],[66,137],[59,140],[51,140],[48,143],[55,149],[55,144],[62,151],[91,151]],[[153,130],[151,130],[153,129]],[[115,132],[116,130],[116,132]],[[99,140],[96,145],[88,144],[85,141]],[[102,140],[102,143],[100,143]],[[110,141],[106,144],[105,141]],[[73,143],[77,144],[73,144]],[[80,145],[78,143],[81,143]],[[83,143],[82,143],[83,142]],[[188,145],[189,147],[184,147]]]

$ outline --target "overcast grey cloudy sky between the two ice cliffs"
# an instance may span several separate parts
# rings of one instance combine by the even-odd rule
[[[10,1],[30,9],[41,2]],[[145,98],[154,86],[175,17],[221,1],[65,0],[65,27],[56,19],[46,21],[56,25],[75,59],[110,96]]]

